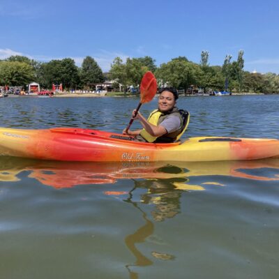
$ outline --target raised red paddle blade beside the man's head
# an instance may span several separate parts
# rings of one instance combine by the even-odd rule
[[[153,73],[146,72],[140,83],[140,103],[149,103],[157,92],[156,77]]]

